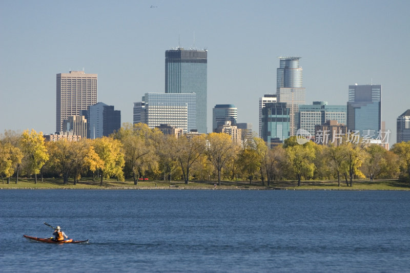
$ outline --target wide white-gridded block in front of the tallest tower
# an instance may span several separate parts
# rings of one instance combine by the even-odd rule
[[[184,133],[196,130],[195,93],[145,93],[142,101],[134,102],[134,123],[149,128],[167,124],[182,128]]]

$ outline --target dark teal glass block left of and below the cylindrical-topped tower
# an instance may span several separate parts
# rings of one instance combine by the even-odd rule
[[[268,147],[290,137],[290,109],[285,102],[269,102],[262,109],[262,139]]]

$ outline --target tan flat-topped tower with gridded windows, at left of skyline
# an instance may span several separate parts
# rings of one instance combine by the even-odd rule
[[[97,103],[97,74],[70,71],[57,74],[56,132],[63,131],[63,121]]]

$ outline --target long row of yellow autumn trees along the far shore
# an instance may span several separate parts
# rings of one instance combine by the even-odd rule
[[[347,136],[346,136],[347,137]],[[80,141],[45,141],[41,132],[5,131],[0,135],[0,175],[10,183],[19,176],[61,177],[63,183],[81,177],[118,180],[140,178],[183,180],[337,180],[352,186],[354,179],[410,179],[410,141],[390,151],[378,145],[342,141],[338,146],[296,137],[268,149],[258,137],[237,143],[224,133],[193,137],[164,135],[147,124],[125,123],[110,137]]]

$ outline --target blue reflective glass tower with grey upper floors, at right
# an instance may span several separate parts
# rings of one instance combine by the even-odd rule
[[[349,86],[347,130],[359,131],[361,136],[381,132],[381,85]]]

